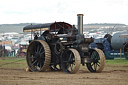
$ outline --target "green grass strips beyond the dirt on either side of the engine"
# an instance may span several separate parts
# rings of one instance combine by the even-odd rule
[[[106,65],[109,66],[128,66],[128,60],[126,59],[114,59],[106,60]],[[0,57],[0,67],[5,68],[26,68],[27,63],[25,58],[16,57]]]

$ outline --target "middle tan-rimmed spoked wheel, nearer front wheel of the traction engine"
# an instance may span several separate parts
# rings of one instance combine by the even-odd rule
[[[76,49],[66,50],[62,57],[62,68],[66,73],[78,72],[81,64],[80,54]]]

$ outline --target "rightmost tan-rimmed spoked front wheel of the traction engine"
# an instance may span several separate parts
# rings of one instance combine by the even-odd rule
[[[91,63],[87,63],[90,72],[101,72],[105,66],[105,56],[102,50],[95,49],[90,55]]]

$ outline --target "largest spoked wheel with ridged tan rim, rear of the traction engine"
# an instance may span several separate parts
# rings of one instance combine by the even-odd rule
[[[51,51],[43,40],[32,41],[27,49],[28,67],[33,72],[46,71],[51,62]]]

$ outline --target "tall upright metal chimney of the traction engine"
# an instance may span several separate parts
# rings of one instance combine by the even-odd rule
[[[77,14],[77,27],[78,27],[78,33],[79,35],[83,34],[83,14]]]

